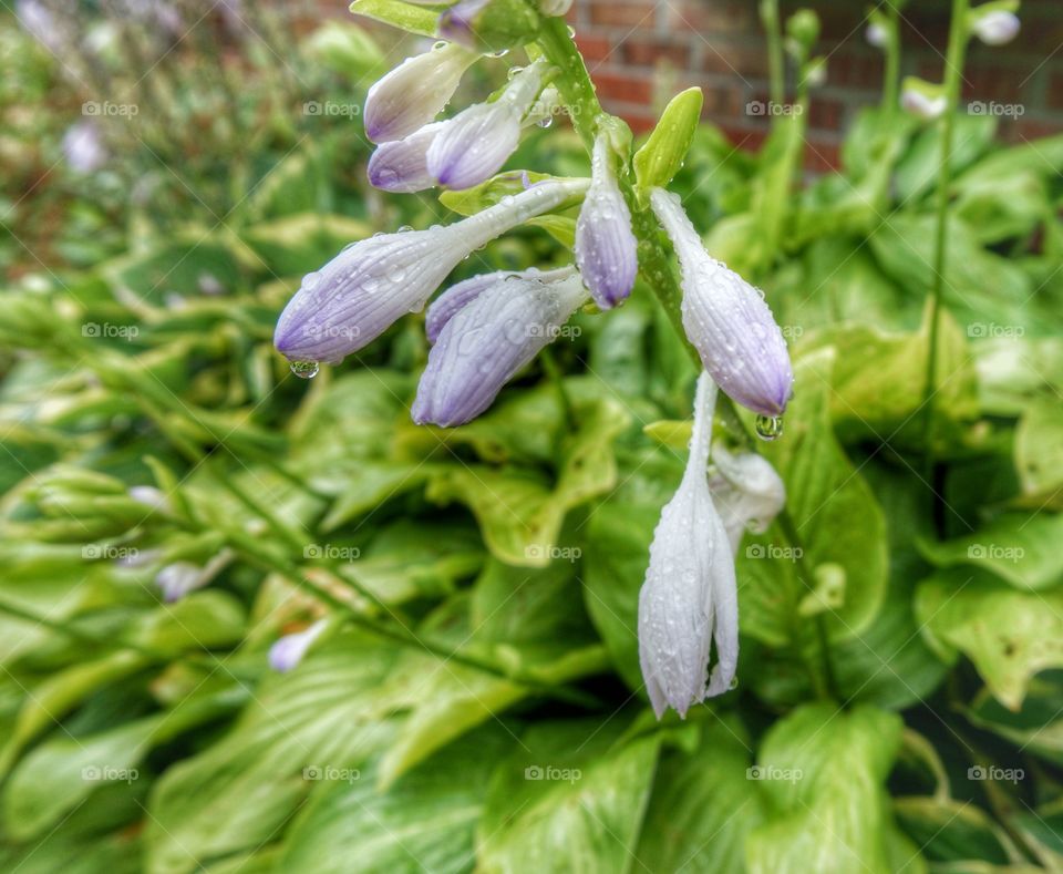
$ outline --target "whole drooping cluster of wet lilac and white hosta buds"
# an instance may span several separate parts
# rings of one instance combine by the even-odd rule
[[[280,316],[275,343],[295,372],[313,376],[319,362],[341,361],[405,313],[424,309],[451,271],[489,240],[547,213],[569,223],[575,217],[571,264],[475,276],[429,308],[431,351],[411,413],[419,424],[460,425],[491,407],[577,310],[622,306],[636,286],[640,251],[661,253],[663,229],[679,259],[685,339],[705,372],[687,476],[658,526],[639,625],[654,709],[685,713],[731,685],[737,657],[733,545],[750,520],[774,516],[783,495],[766,462],[721,449],[713,490],[722,515],[716,510],[706,470],[716,387],[760,417],[781,417],[793,384],[786,343],[763,294],[705,251],[680,198],[667,191],[690,145],[701,94],[679,95],[632,156],[630,131],[597,101],[565,103],[578,93],[571,78],[582,75],[590,88],[586,71],[536,39],[567,3],[540,3],[532,32],[517,42],[527,44],[529,63],[512,70],[492,99],[440,117],[465,71],[484,54],[497,56],[488,51],[485,22],[498,21],[489,16],[505,2],[450,7],[436,25],[447,39],[374,84],[364,111],[367,135],[378,144],[368,167],[372,185],[388,192],[475,187],[471,199],[483,208],[448,226],[379,234],[345,248],[303,278]],[[558,102],[580,119],[589,178],[537,175],[533,183],[528,172],[497,175],[522,131]],[[713,641],[716,666],[706,685]]]

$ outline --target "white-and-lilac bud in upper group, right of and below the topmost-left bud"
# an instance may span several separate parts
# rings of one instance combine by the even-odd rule
[[[520,144],[520,120],[541,85],[538,63],[525,68],[494,103],[455,115],[429,146],[429,173],[448,188],[471,188],[494,176]]]

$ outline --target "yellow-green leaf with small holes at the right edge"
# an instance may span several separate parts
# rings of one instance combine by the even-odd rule
[[[947,570],[925,580],[916,616],[931,642],[963,652],[997,699],[1018,710],[1038,671],[1063,666],[1063,592],[1019,592],[987,577]]]

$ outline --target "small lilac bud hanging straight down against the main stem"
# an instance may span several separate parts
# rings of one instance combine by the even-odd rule
[[[639,271],[631,213],[617,185],[605,135],[595,141],[590,188],[576,222],[576,264],[601,309],[625,300]]]

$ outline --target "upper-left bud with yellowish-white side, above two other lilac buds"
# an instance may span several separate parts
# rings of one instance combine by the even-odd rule
[[[446,43],[407,58],[365,96],[365,135],[374,143],[402,140],[443,110],[476,54]]]

